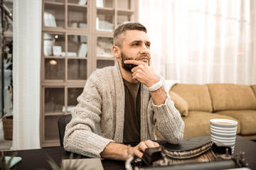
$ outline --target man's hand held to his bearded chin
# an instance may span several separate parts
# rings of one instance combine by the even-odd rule
[[[147,87],[153,86],[159,81],[157,79],[156,74],[154,73],[154,68],[151,66],[151,62],[149,65],[146,62],[141,62],[137,60],[125,60],[124,64],[134,64],[137,67],[134,67],[132,71],[132,79],[135,79]]]

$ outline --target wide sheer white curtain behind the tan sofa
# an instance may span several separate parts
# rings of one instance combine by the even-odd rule
[[[256,84],[255,1],[140,0],[154,68],[184,84]]]

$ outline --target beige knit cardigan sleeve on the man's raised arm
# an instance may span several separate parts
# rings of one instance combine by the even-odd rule
[[[161,80],[164,81],[162,78]],[[164,137],[164,140],[178,144],[183,139],[184,123],[167,91],[166,95],[165,103],[160,106],[156,106],[152,99],[150,101],[154,112],[154,123],[156,130]]]

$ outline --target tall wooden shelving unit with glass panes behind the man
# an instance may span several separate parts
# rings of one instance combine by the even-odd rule
[[[95,69],[114,65],[113,30],[137,21],[138,0],[43,0],[41,146],[59,146],[60,115]]]

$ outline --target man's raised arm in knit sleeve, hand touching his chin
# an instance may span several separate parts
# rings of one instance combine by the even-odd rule
[[[136,60],[126,60],[124,63],[138,65],[132,69],[132,79],[140,81],[145,86],[151,87],[159,81],[150,62],[149,65]],[[160,89],[151,91],[151,98],[154,103],[152,108],[156,130],[160,132],[164,140],[170,143],[181,142],[184,123],[174,106],[174,102],[167,96],[164,87],[161,86]]]

